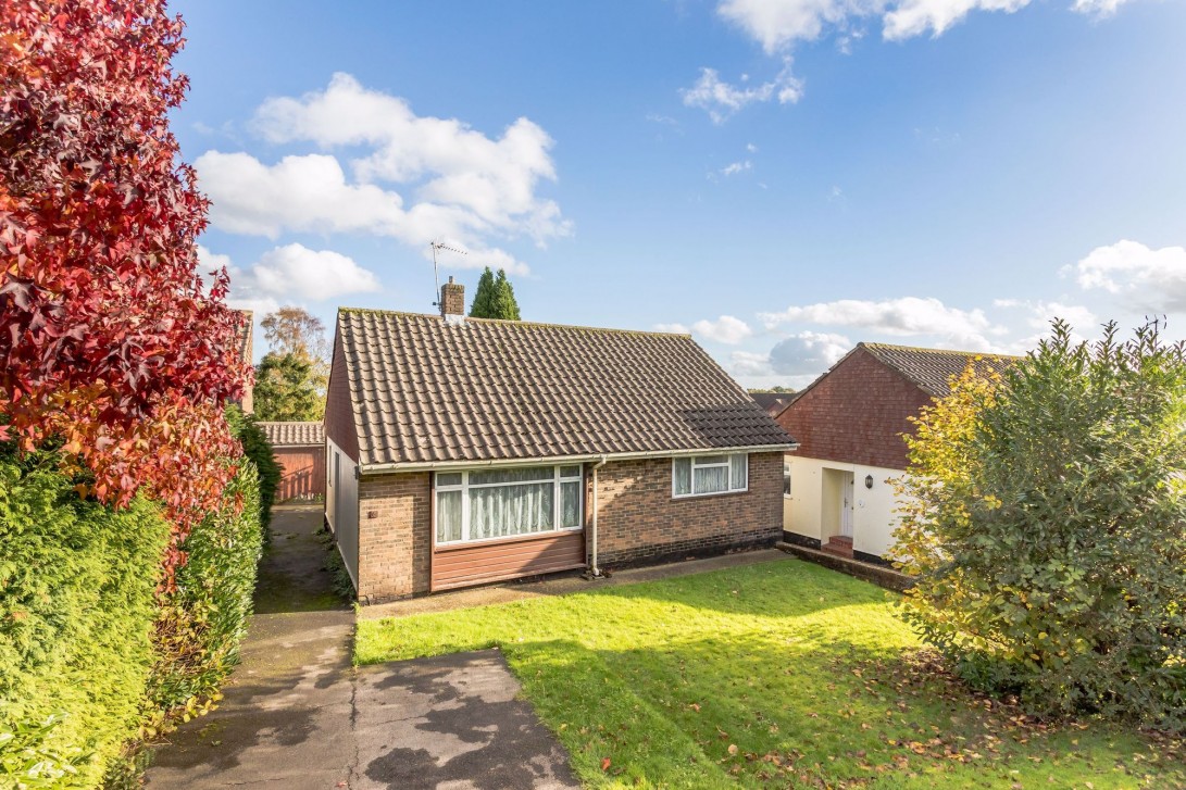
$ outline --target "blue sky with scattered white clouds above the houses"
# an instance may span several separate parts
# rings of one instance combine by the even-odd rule
[[[690,331],[801,387],[859,340],[1186,337],[1186,2],[176,2],[173,127],[238,306]]]

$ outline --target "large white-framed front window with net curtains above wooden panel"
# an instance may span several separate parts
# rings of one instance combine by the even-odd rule
[[[581,467],[436,473],[436,543],[581,528]]]

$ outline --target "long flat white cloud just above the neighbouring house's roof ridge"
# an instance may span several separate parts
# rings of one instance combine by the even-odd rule
[[[938,299],[903,297],[871,301],[841,299],[801,307],[788,307],[779,313],[759,313],[767,329],[789,321],[850,326],[882,335],[927,335],[942,338],[948,345],[970,351],[988,351],[991,344],[984,337],[995,327],[982,310],[948,307]]]

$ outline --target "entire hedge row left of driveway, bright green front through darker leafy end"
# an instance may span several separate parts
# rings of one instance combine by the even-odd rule
[[[236,431],[267,448],[249,419]],[[217,702],[251,613],[260,488],[242,463],[166,595],[152,503],[116,512],[79,499],[52,453],[0,454],[0,788],[138,786],[144,739]]]

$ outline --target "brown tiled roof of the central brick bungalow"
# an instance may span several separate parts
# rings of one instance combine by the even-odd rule
[[[782,447],[687,335],[340,310],[359,461]]]

